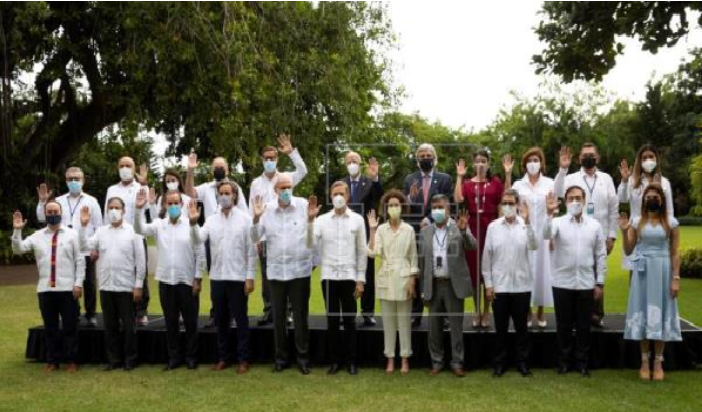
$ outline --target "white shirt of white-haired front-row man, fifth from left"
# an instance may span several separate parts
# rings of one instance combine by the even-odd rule
[[[312,250],[307,247],[307,200],[293,197],[290,205],[278,201],[266,205],[266,211],[251,229],[254,243],[266,236],[268,280],[287,281],[310,277]]]

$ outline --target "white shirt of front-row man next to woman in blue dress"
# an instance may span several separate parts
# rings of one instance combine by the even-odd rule
[[[553,239],[551,284],[571,290],[593,289],[603,285],[607,275],[607,247],[597,220],[583,213],[580,223],[570,215],[549,219],[544,238]],[[595,282],[595,270],[597,282]]]

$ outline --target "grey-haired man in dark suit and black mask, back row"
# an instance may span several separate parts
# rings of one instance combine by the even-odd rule
[[[453,179],[446,173],[436,171],[438,158],[436,149],[429,143],[421,144],[415,153],[419,170],[405,177],[403,192],[410,202],[410,214],[407,223],[412,225],[415,233],[431,222],[431,203],[434,195],[445,195],[452,202]],[[416,298],[412,301],[412,326],[422,322],[424,307],[419,291],[421,281],[416,284]]]

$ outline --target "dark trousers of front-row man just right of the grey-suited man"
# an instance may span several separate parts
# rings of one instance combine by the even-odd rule
[[[531,292],[497,293],[492,302],[495,316],[495,366],[505,366],[507,362],[507,331],[512,319],[516,332],[516,361],[526,363],[529,359],[529,330],[527,316],[531,307]]]

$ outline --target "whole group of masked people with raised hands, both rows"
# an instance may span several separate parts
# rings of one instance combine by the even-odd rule
[[[208,326],[215,326],[218,336],[213,369],[236,365],[238,374],[248,372],[248,296],[260,262],[264,315],[259,324],[273,323],[274,372],[292,363],[287,342],[292,324],[294,362],[302,374],[310,373],[310,277],[319,266],[328,374],[342,368],[358,373],[357,301],[361,324],[372,326],[377,298],[388,374],[395,371],[398,335],[401,373],[409,372],[412,328],[421,324],[427,307],[430,374],[440,373],[447,363],[443,332],[448,329],[448,364],[453,374],[464,376],[464,301],[472,297],[474,328],[489,327],[491,307],[494,312],[494,376],[510,366],[510,321],[516,332],[516,369],[532,375],[528,331],[534,323],[547,326],[548,307],[555,308],[558,373],[575,370],[589,376],[590,332],[603,324],[606,260],[621,230],[623,264],[631,270],[624,337],[641,342],[640,377],[664,379],[665,342],[681,340],[679,233],[670,183],[661,175],[655,147],[641,147],[633,168],[622,161],[617,189],[612,177],[598,169],[597,148],[589,143],[579,153],[581,168],[570,174],[573,155],[569,148],[561,149],[555,179],[544,175],[543,151],[529,149],[521,158],[524,176],[514,184],[509,155],[502,159],[504,182],[491,171],[489,151],[480,150],[472,157],[472,177],[467,177],[465,160],[457,162],[454,184],[449,174],[438,171],[435,148],[422,144],[415,152],[418,170],[405,178],[403,190],[387,191],[377,160],[369,159],[364,174],[361,156],[348,152],[348,175],[331,185],[332,209],[320,215],[322,205],[315,196],[293,195],[307,174],[302,157],[288,136],[279,136],[278,143],[261,150],[263,173],[251,184],[248,203],[242,188],[228,178],[224,158],[212,161],[213,181],[195,186],[198,160],[193,153],[185,183],[178,171],[167,170],[160,195],[148,187],[146,167],[136,173],[131,158],[120,159],[120,181],[107,192],[104,214],[82,190],[84,176],[77,167],[66,171],[68,193],[62,196],[54,198],[41,185],[37,217],[46,227],[23,239],[26,220],[15,212],[12,245],[15,253],[33,251],[36,257],[46,370],[63,362],[76,371],[78,302],[84,294],[86,324],[94,326],[96,287],[106,332],[106,369],[136,366],[135,325],[148,324],[145,238],[153,237],[167,329],[166,370],[198,366],[199,292],[208,272]],[[293,172],[278,170],[280,153],[290,157]],[[566,213],[557,217],[561,201]],[[631,216],[619,213],[620,203],[629,204]],[[380,259],[377,273],[375,258]],[[236,342],[230,333],[234,325]]]

